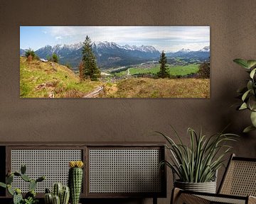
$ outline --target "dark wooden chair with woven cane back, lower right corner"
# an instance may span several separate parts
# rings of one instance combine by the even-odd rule
[[[171,204],[256,203],[256,159],[232,154],[218,193],[198,193],[174,188]]]

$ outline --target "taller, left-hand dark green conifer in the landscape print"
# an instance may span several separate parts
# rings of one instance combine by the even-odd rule
[[[100,69],[97,67],[95,55],[92,52],[92,42],[88,36],[82,42],[82,78],[90,78],[92,81],[97,81],[100,77]]]

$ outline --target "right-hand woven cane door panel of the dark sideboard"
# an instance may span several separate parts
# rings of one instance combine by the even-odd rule
[[[159,149],[90,149],[90,193],[161,192]]]

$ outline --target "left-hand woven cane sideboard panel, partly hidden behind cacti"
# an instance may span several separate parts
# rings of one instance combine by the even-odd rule
[[[21,164],[26,164],[26,174],[31,179],[46,176],[46,180],[38,183],[37,193],[44,193],[53,183],[68,184],[68,162],[82,159],[80,149],[12,149],[11,171],[20,171]],[[21,178],[14,178],[14,187],[28,192],[28,183]]]

